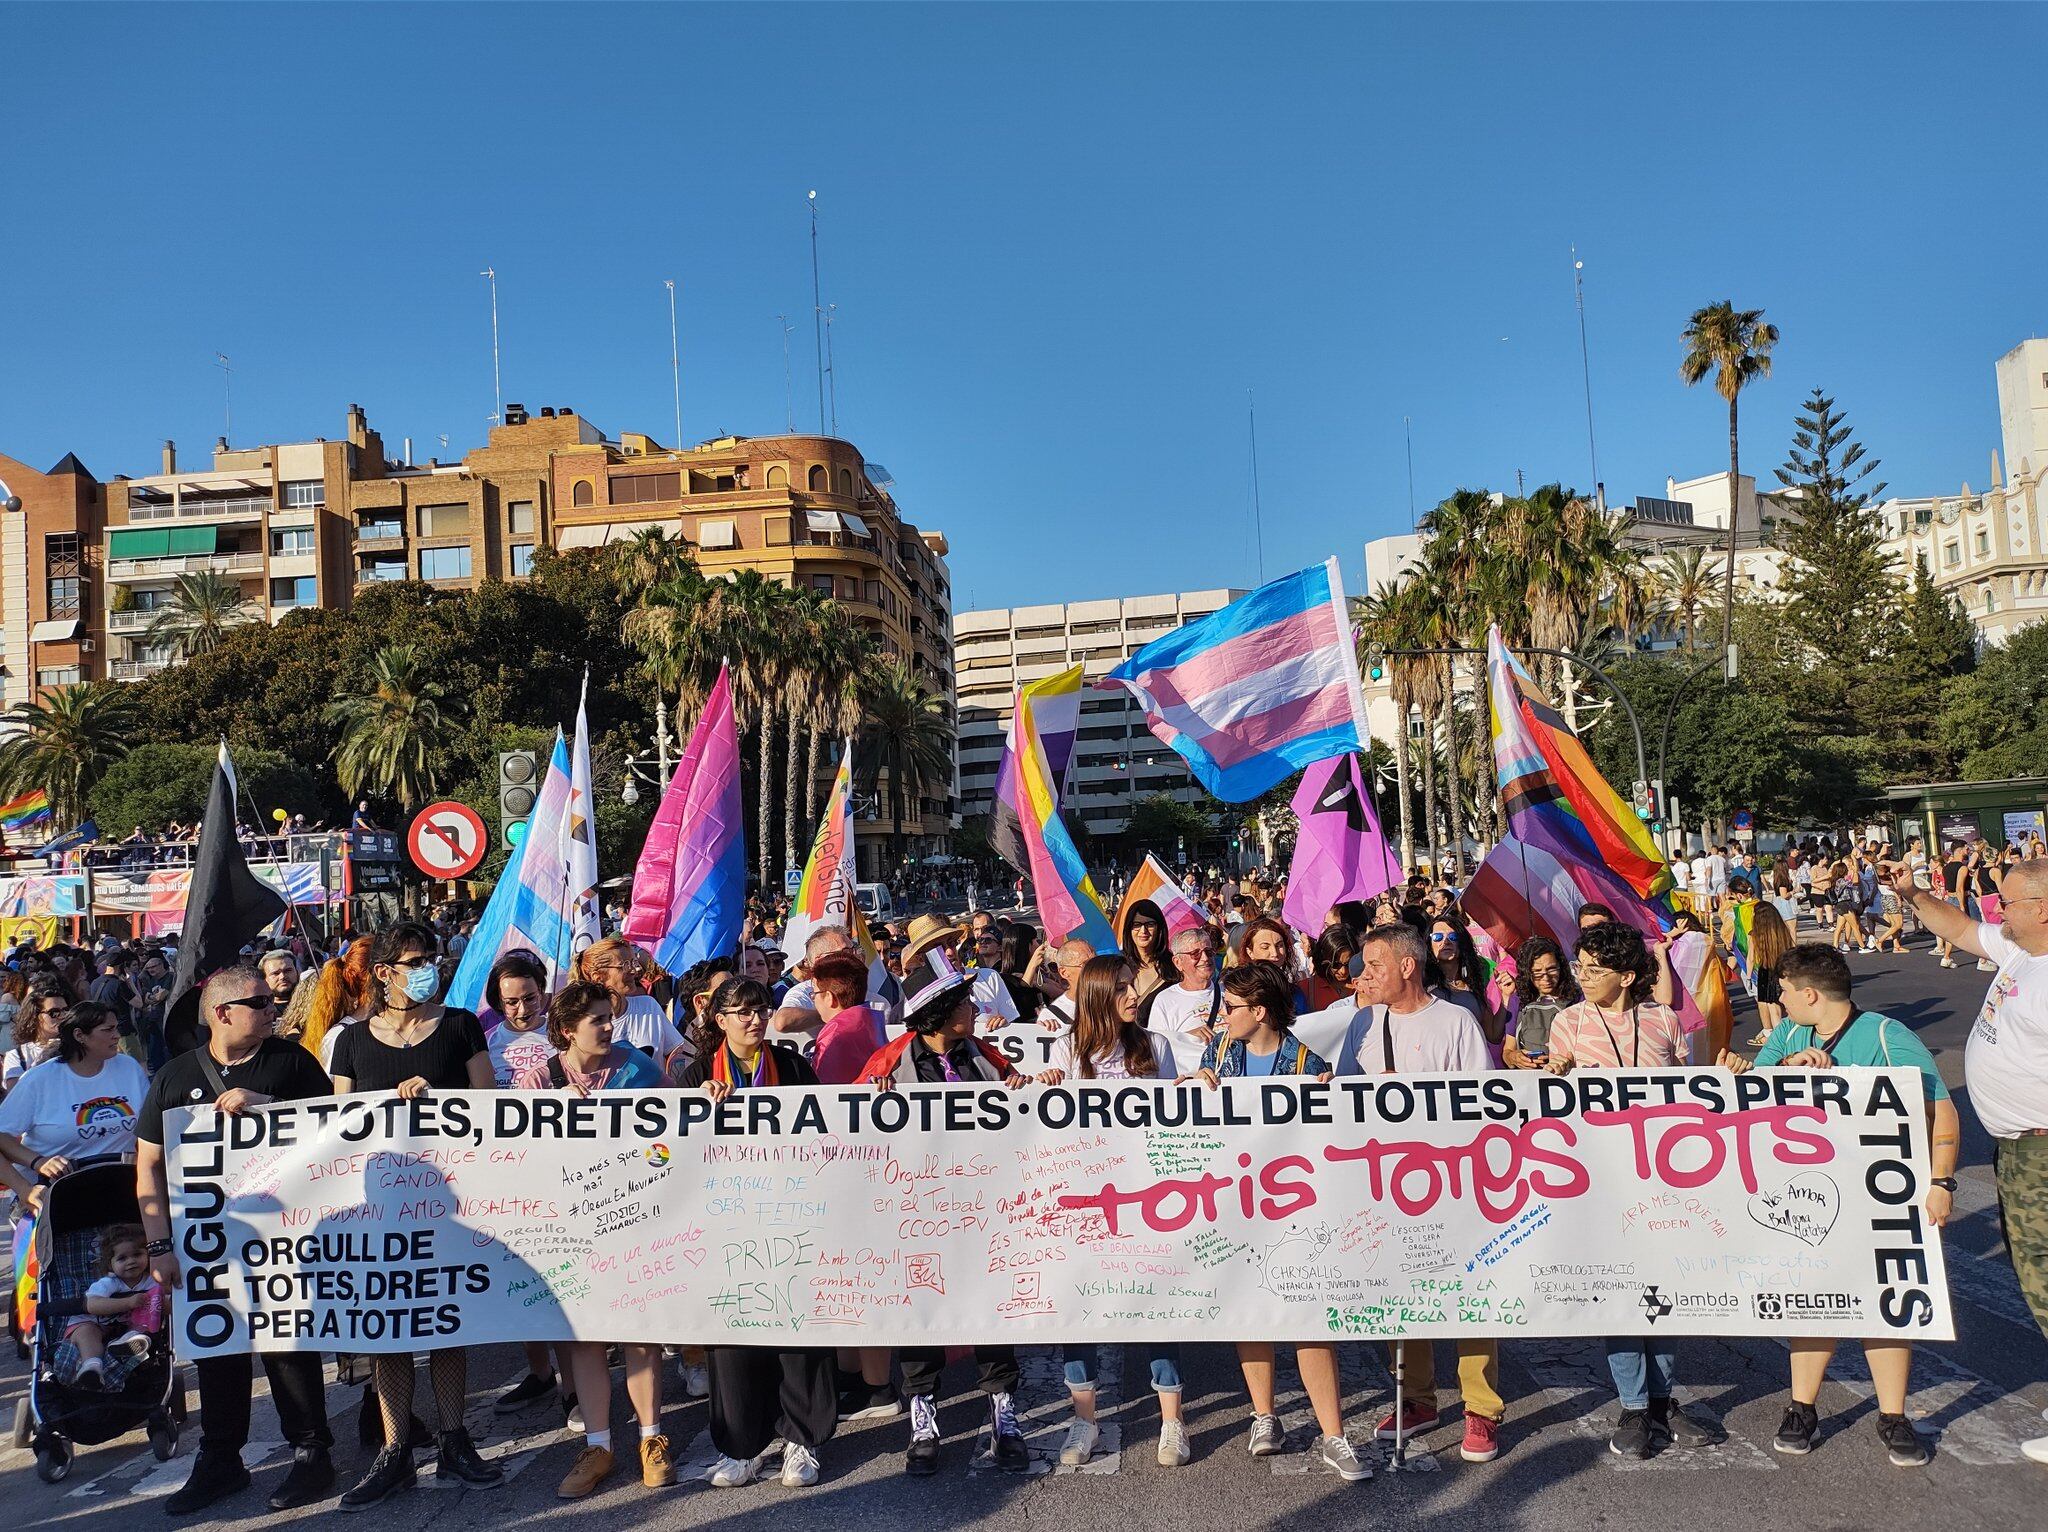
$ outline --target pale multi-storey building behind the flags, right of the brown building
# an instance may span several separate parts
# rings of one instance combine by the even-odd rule
[[[961,682],[961,815],[989,813],[1018,686],[1073,664],[1085,666],[1090,680],[1106,676],[1159,635],[1243,594],[1190,590],[958,612],[952,649]],[[1186,762],[1145,727],[1145,713],[1126,692],[1083,694],[1063,805],[1069,823],[1079,819],[1092,836],[1114,836],[1130,823],[1141,799],[1159,793],[1182,803],[1210,803]]]

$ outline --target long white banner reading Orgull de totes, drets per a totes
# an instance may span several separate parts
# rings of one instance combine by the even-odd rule
[[[449,1092],[166,1118],[180,1354],[1952,1339],[1921,1081]]]

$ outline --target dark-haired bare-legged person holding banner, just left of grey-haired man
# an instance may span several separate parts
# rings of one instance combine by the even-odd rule
[[[1194,1073],[1204,1086],[1225,1079],[1268,1079],[1280,1075],[1329,1079],[1329,1065],[1290,1032],[1294,985],[1272,963],[1245,963],[1223,975],[1223,1016],[1202,1051]],[[1272,1342],[1237,1342],[1237,1364],[1251,1395],[1251,1456],[1270,1458],[1286,1450],[1286,1432],[1274,1405]],[[1319,1432],[1317,1454],[1348,1481],[1370,1479],[1372,1469],[1343,1434],[1343,1389],[1337,1385],[1335,1346],[1296,1346],[1294,1370],[1309,1393]]]

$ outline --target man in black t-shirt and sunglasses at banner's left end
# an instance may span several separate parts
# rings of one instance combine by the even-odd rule
[[[166,1292],[178,1290],[178,1258],[170,1243],[170,1180],[164,1155],[164,1112],[213,1102],[221,1112],[248,1112],[268,1102],[326,1096],[332,1088],[319,1061],[305,1049],[270,1034],[276,1008],[262,975],[250,967],[223,969],[199,991],[207,1042],[166,1063],[150,1083],[135,1116],[135,1196],[150,1239],[150,1272]],[[184,1489],[164,1501],[172,1516],[203,1509],[246,1489],[242,1448],[250,1438],[250,1391],[256,1374],[250,1356],[209,1356],[199,1374],[199,1454]],[[264,1352],[270,1401],[293,1446],[291,1473],[270,1495],[270,1509],[285,1512],[326,1499],[334,1487],[328,1450],[328,1401],[317,1352]]]

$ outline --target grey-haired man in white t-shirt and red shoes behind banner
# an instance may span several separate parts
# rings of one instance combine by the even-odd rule
[[[1491,1069],[1487,1034],[1464,1006],[1436,999],[1427,987],[1427,948],[1413,926],[1374,926],[1358,948],[1358,1016],[1331,1067],[1339,1075],[1411,1075]],[[1501,1452],[1501,1354],[1479,1335],[1458,1342],[1458,1393],[1464,1399],[1466,1462],[1489,1462]],[[1401,1342],[1395,1364],[1401,1407],[1389,1411],[1376,1436],[1417,1436],[1438,1421],[1436,1350],[1430,1342]]]

